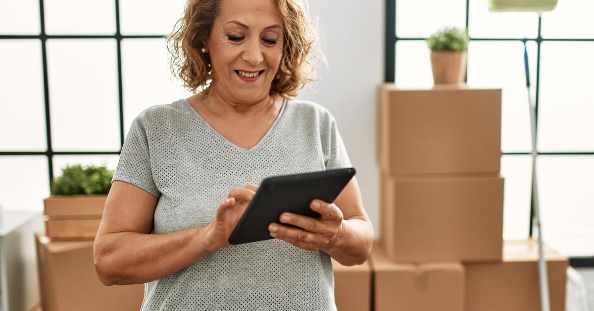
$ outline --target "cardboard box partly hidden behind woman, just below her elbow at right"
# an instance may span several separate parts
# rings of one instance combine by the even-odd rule
[[[346,267],[332,259],[334,300],[339,311],[371,310],[371,266]]]

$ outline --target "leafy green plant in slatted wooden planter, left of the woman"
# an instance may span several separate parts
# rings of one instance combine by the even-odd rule
[[[106,166],[66,166],[52,181],[45,206],[46,235],[53,239],[94,239],[111,188]]]

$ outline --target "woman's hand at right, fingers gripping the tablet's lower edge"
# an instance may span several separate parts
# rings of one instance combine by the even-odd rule
[[[268,225],[270,236],[291,243],[308,251],[319,251],[336,239],[342,226],[342,211],[334,204],[313,200],[309,207],[321,214],[319,219],[293,213],[280,215],[280,223]]]

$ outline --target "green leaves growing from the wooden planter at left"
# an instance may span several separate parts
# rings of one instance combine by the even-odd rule
[[[52,195],[106,194],[111,188],[113,171],[105,166],[67,165],[52,182]]]

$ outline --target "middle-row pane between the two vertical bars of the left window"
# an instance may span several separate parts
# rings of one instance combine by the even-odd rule
[[[52,144],[56,151],[117,151],[116,41],[47,41]]]

